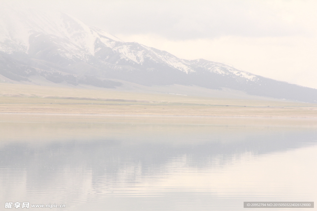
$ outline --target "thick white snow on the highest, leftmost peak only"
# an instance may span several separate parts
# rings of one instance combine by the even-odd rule
[[[0,42],[10,40],[25,47],[27,52],[29,37],[34,33],[65,38],[91,55],[94,55],[94,43],[97,38],[123,42],[114,35],[90,27],[66,13],[43,13],[38,10],[10,7],[0,9]]]

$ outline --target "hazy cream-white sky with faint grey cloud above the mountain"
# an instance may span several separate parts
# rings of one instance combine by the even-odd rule
[[[317,88],[315,0],[10,2],[63,11],[124,41],[179,58],[204,58]]]

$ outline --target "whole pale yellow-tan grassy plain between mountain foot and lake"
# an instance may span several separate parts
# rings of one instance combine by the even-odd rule
[[[0,113],[317,117],[317,105],[0,83]]]

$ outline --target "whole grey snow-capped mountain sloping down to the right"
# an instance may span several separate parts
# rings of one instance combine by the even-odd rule
[[[0,74],[12,80],[41,75],[55,83],[102,87],[121,79],[143,85],[229,87],[249,94],[316,102],[317,90],[275,81],[204,59],[185,60],[124,42],[65,13],[5,9],[0,14]]]

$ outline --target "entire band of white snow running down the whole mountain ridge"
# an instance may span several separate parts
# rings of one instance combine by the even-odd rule
[[[203,70],[220,75],[238,76],[251,81],[258,79],[249,72],[239,71],[222,63],[205,59],[179,59],[166,51],[136,42],[124,42],[112,34],[88,26],[65,13],[49,14],[37,10],[0,8],[0,51],[27,53],[31,35],[33,35],[32,39],[36,39],[40,35],[48,36],[49,40],[58,46],[57,52],[70,59],[78,58],[86,61],[89,56],[94,56],[101,48],[109,47],[113,52],[120,53],[119,58],[122,61],[139,65],[160,63],[187,74],[197,72],[198,70],[195,68],[201,67]],[[103,58],[107,59],[109,56],[105,55]],[[119,64],[120,61],[117,60],[116,63]]]

